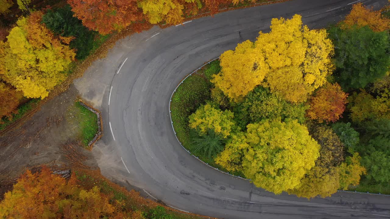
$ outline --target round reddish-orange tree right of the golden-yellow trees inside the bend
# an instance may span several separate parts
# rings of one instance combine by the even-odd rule
[[[310,100],[310,108],[307,110],[307,116],[316,119],[319,122],[325,120],[336,122],[342,117],[345,110],[345,104],[348,94],[341,90],[339,84],[327,83],[324,87],[319,88],[316,95]]]

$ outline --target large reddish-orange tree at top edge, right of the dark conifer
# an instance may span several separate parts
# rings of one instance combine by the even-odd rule
[[[68,0],[68,3],[84,26],[100,34],[120,31],[142,19],[136,0]]]

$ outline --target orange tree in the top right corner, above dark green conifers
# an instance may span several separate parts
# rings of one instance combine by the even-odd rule
[[[381,16],[380,11],[367,9],[362,3],[352,6],[352,11],[344,20],[346,27],[358,25],[369,26],[375,32],[382,32],[390,28],[390,19]]]

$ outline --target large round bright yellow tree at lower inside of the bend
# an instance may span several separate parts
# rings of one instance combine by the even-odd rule
[[[295,188],[319,156],[319,145],[297,120],[266,120],[233,135],[215,161],[241,170],[252,182],[275,194]]]

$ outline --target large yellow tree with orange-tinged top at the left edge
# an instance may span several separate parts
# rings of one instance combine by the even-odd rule
[[[60,81],[75,53],[41,23],[42,12],[20,18],[2,45],[0,74],[25,97],[44,98]]]

